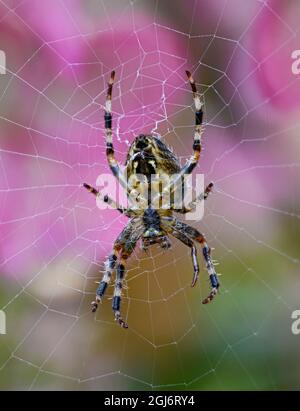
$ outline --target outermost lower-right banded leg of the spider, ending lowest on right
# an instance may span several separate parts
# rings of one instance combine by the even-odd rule
[[[209,275],[209,281],[210,281],[210,286],[211,286],[211,291],[209,295],[202,301],[202,303],[203,304],[209,303],[210,301],[213,300],[214,296],[217,294],[220,284],[219,284],[219,280],[218,280],[215,267],[212,262],[211,250],[206,243],[206,239],[204,235],[200,233],[200,231],[198,231],[196,228],[191,227],[183,223],[182,221],[177,220],[175,217],[172,217],[172,218],[162,217],[161,220],[163,223],[163,228],[165,230],[168,230],[171,233],[172,233],[172,230],[174,230],[177,233],[182,233],[185,236],[187,236],[189,239],[194,240],[201,245],[202,254],[203,254],[204,261],[205,261],[206,270]]]

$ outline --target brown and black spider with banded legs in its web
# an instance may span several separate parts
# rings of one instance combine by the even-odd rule
[[[110,169],[121,186],[128,193],[132,190],[136,190],[139,187],[140,182],[134,178],[130,178],[131,183],[129,183],[128,177],[134,177],[137,174],[143,174],[147,180],[151,177],[151,174],[156,175],[176,175],[176,180],[181,181],[182,177],[186,174],[192,173],[196,167],[200,152],[201,152],[201,135],[202,120],[203,120],[203,110],[202,110],[202,99],[197,91],[195,81],[189,71],[186,71],[188,81],[191,85],[193,92],[193,99],[195,105],[195,131],[194,131],[194,142],[193,142],[193,155],[186,162],[183,167],[180,167],[178,159],[175,157],[171,149],[158,137],[153,135],[141,134],[136,137],[128,151],[127,160],[125,163],[124,171],[121,171],[119,164],[115,158],[114,147],[112,141],[112,89],[115,80],[115,72],[112,71],[109,82],[108,90],[105,102],[105,136],[106,136],[106,156]],[[183,223],[178,220],[173,213],[188,213],[191,211],[196,202],[206,200],[209,193],[212,190],[213,183],[210,183],[204,190],[204,193],[200,194],[194,201],[188,204],[187,207],[181,209],[176,209],[175,204],[172,203],[169,208],[153,208],[152,200],[147,200],[145,205],[145,199],[143,195],[139,192],[141,207],[130,207],[127,208],[119,206],[107,195],[102,195],[100,191],[96,190],[89,184],[84,183],[83,186],[92,194],[100,197],[101,200],[108,203],[109,205],[116,208],[120,213],[126,215],[130,218],[129,222],[122,230],[118,238],[116,239],[113,250],[105,262],[105,272],[99,287],[96,291],[96,299],[92,302],[92,312],[97,310],[102,297],[107,290],[107,286],[111,280],[112,273],[116,269],[116,279],[114,294],[112,300],[112,309],[115,314],[115,320],[123,328],[128,328],[127,323],[123,320],[120,307],[121,307],[121,294],[122,286],[125,277],[125,265],[126,261],[132,254],[138,240],[142,241],[142,248],[147,249],[152,244],[159,244],[162,248],[169,248],[171,246],[169,236],[177,238],[183,244],[191,249],[191,257],[193,262],[193,278],[191,286],[196,285],[198,275],[199,275],[199,265],[197,260],[197,249],[195,243],[199,243],[202,247],[202,254],[206,264],[206,269],[209,275],[209,281],[211,290],[209,295],[202,301],[203,304],[207,304],[214,296],[217,294],[219,288],[218,277],[213,265],[211,258],[211,251],[208,247],[205,237],[197,229]],[[172,187],[169,184],[164,191],[172,191]],[[141,187],[139,187],[141,188]],[[158,194],[160,196],[160,194]]]

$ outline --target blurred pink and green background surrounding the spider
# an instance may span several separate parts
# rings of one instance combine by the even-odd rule
[[[297,0],[1,0],[1,389],[300,388],[300,48]],[[198,172],[215,190],[203,220],[221,290],[190,288],[189,250],[129,261],[123,313],[112,288],[90,313],[126,223],[81,188],[105,161],[105,85],[116,70],[114,141],[124,163],[156,132],[192,149],[190,69],[205,100]],[[200,259],[200,253],[199,253]]]

